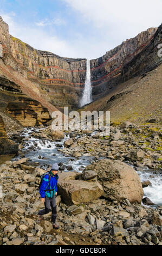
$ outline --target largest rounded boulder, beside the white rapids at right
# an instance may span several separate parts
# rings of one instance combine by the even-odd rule
[[[103,187],[105,198],[121,201],[128,199],[129,202],[140,203],[144,191],[135,170],[118,160],[102,159],[90,164],[86,170],[94,170],[98,181]]]

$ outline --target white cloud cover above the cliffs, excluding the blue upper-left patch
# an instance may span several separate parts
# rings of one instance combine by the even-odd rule
[[[70,19],[66,21],[66,17],[61,17],[61,10],[60,15],[54,19],[38,20],[33,26],[29,24],[25,28],[16,21],[14,13],[2,14],[2,17],[9,24],[10,34],[39,50],[50,51],[63,57],[87,59],[101,57],[122,41],[133,38],[147,28],[158,27],[161,23],[161,0],[61,1],[74,11],[80,26],[77,32],[75,26],[73,33],[73,23],[70,23]],[[65,5],[62,6],[66,9]],[[54,29],[56,26],[66,26],[67,22],[71,36],[67,35],[62,39]],[[51,25],[53,34],[48,29]],[[86,29],[81,30],[81,25],[84,25],[83,28],[87,26],[87,31],[91,26],[92,31],[88,34]],[[60,32],[61,29],[62,27]]]

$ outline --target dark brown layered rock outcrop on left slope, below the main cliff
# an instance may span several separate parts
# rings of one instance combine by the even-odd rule
[[[23,126],[35,126],[50,120],[48,109],[23,94],[20,86],[0,75],[0,108]]]

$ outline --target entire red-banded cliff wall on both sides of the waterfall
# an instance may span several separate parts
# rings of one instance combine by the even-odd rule
[[[143,52],[147,48],[148,56],[150,51],[154,52],[154,56],[157,53],[156,47],[161,39],[160,35],[155,38],[156,31],[157,28],[150,28],[135,38],[122,42],[101,58],[90,60],[93,100],[108,93],[116,84],[146,70]],[[152,44],[153,40],[156,43]],[[0,72],[19,84],[24,94],[41,102],[50,114],[56,110],[55,107],[78,107],[86,79],[86,59],[63,58],[50,52],[35,50],[9,35],[8,25],[1,17],[0,42],[3,45]],[[150,44],[152,48],[148,47]],[[140,57],[142,62],[139,54],[143,54]],[[151,58],[149,65],[154,65]]]

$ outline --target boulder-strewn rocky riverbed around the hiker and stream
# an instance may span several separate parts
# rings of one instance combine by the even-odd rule
[[[41,127],[10,138],[19,143],[19,154],[0,166],[1,245],[162,244],[161,191],[151,203],[145,192],[154,188],[155,175],[161,186],[158,127],[114,124],[108,137],[92,131],[64,136]],[[53,161],[60,166],[59,230],[52,228],[51,213],[37,220],[37,211],[44,207],[38,192],[40,175]],[[148,171],[152,176],[142,176],[141,184],[138,174]]]

